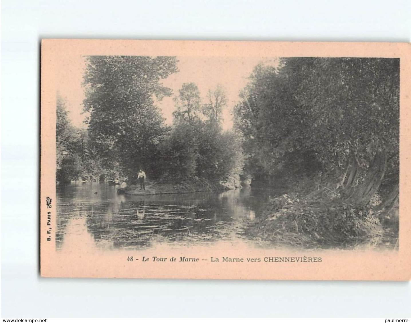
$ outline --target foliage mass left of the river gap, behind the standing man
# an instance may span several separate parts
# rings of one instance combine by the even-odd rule
[[[83,85],[88,129],[69,125],[58,101],[58,145],[75,145],[58,148],[67,150],[66,155],[58,152],[60,164],[67,164],[60,181],[120,176],[130,184],[142,168],[148,178],[163,182],[203,179],[239,186],[241,141],[234,132],[222,131],[222,86],[210,90],[209,103],[203,105],[197,85],[183,84],[174,98],[174,123],[164,124],[156,99],[172,95],[161,80],[177,71],[176,64],[174,57],[87,58]]]

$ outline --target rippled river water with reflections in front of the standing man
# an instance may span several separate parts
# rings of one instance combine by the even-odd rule
[[[247,240],[243,227],[255,221],[268,190],[251,187],[223,193],[154,196],[117,194],[106,183],[76,183],[57,188],[56,246],[103,249],[150,248],[154,243],[210,244]]]

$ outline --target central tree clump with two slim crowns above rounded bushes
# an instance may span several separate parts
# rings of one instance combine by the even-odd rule
[[[239,178],[242,171],[241,145],[238,136],[223,133],[216,125],[226,96],[221,86],[209,91],[208,120],[200,118],[200,92],[194,83],[185,83],[175,98],[176,111],[169,136],[162,146],[165,177],[197,177],[218,183]],[[238,181],[237,181],[238,182]]]

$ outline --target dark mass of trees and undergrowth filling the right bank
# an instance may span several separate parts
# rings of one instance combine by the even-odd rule
[[[268,207],[257,232],[288,224],[284,232],[292,239],[379,234],[378,219],[398,203],[398,59],[286,58],[278,67],[259,65],[235,115],[252,177],[306,183],[301,191],[308,195]],[[284,232],[269,239],[284,239]]]

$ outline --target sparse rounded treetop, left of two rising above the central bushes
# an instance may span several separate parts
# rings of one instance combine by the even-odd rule
[[[173,116],[176,121],[193,122],[199,117],[201,98],[195,83],[184,83],[174,98],[176,110]]]

